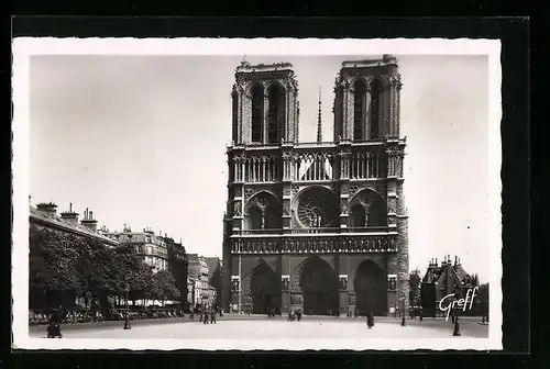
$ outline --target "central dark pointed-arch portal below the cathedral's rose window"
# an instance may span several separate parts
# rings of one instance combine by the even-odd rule
[[[306,259],[299,282],[306,314],[331,315],[338,312],[338,276],[327,261],[318,256]]]

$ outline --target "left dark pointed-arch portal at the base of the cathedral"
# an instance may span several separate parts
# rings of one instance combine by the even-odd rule
[[[265,314],[271,309],[280,308],[279,283],[277,275],[261,259],[260,264],[252,270],[250,279],[253,314]]]

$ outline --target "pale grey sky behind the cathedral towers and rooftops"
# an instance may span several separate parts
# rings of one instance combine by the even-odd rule
[[[332,139],[334,78],[350,56],[246,56],[294,65],[301,142]],[[407,136],[410,269],[461,258],[488,280],[488,58],[397,55]],[[151,227],[221,257],[235,56],[31,57],[31,203],[121,231]]]

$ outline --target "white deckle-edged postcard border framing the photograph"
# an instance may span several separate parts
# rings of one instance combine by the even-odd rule
[[[13,347],[22,349],[410,350],[502,349],[501,42],[469,38],[54,38],[20,37],[13,49]],[[449,339],[44,339],[29,336],[29,82],[32,55],[487,55],[490,70],[488,338]]]

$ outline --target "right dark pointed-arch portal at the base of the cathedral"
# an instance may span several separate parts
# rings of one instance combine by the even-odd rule
[[[386,277],[381,267],[372,260],[361,262],[353,281],[355,290],[355,309],[364,315],[372,312],[374,315],[387,313]]]

